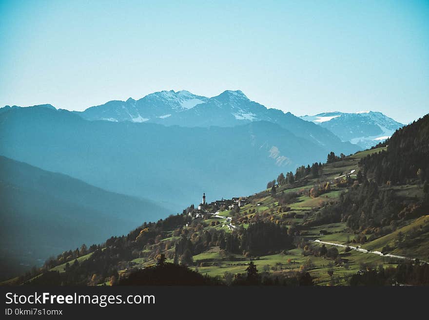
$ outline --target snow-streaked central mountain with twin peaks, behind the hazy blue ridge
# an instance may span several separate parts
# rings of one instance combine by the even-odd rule
[[[184,127],[234,127],[255,121],[278,124],[294,135],[329,151],[351,153],[358,147],[341,140],[329,130],[301,120],[292,113],[251,101],[240,90],[227,90],[207,98],[187,91],[162,91],[139,100],[110,101],[77,113],[87,120],[133,121]]]

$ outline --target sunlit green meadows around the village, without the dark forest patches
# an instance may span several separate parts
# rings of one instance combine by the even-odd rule
[[[296,273],[308,272],[316,285],[348,285],[353,275],[367,270],[396,268],[400,260],[404,260],[403,256],[410,262],[418,259],[420,264],[425,264],[424,261],[428,261],[429,257],[429,246],[404,247],[399,245],[397,239],[398,234],[407,235],[411,230],[418,229],[426,230],[418,235],[418,237],[425,237],[425,232],[429,232],[429,215],[398,222],[392,232],[376,236],[374,239],[365,237],[365,241],[362,240],[363,233],[351,229],[346,222],[315,223],[323,207],[338,201],[351,186],[356,186],[358,174],[353,173],[362,169],[359,166],[360,160],[372,154],[385,152],[386,149],[386,147],[380,147],[358,152],[340,161],[326,163],[319,170],[317,177],[307,175],[292,184],[276,183],[275,194],[271,187],[249,197],[234,198],[236,203],[242,202],[240,207],[234,205],[234,200],[219,200],[201,204],[200,210],[192,206],[188,207],[182,215],[176,218],[170,216],[165,221],[158,221],[156,225],[144,224],[136,230],[137,233],[130,233],[127,239],[134,239],[133,234],[135,234],[138,243],[139,237],[145,232],[150,232],[148,228],[152,226],[169,225],[170,219],[183,221],[183,224],[175,223],[176,228],[161,227],[162,231],[155,238],[152,240],[149,238],[150,241],[143,242],[145,245],[142,249],[133,253],[137,257],[131,257],[128,261],[118,264],[123,265],[124,268],[117,270],[117,277],[126,277],[127,274],[133,273],[133,270],[154,267],[160,253],[165,254],[167,263],[174,263],[175,259],[179,259],[181,264],[187,264],[190,269],[202,275],[227,282],[239,274],[245,274],[250,261],[254,262],[262,277],[268,277],[268,275],[291,277]],[[326,183],[330,184],[329,190],[317,196],[312,194],[311,190],[315,185]],[[394,186],[391,190],[395,192],[396,197],[413,199],[413,194],[418,192],[414,187],[413,184],[407,184]],[[285,204],[282,199],[288,199],[292,194],[290,198],[292,200]],[[222,202],[231,203],[233,207],[229,209],[216,205]],[[200,215],[195,215],[195,212],[199,212]],[[228,243],[229,235],[232,236],[237,232],[244,235],[243,231],[255,221],[287,226],[287,233],[291,234],[295,245],[282,250],[267,248],[264,249],[267,250],[265,254],[261,255],[237,252],[233,249],[234,245]],[[146,229],[148,230],[145,231]],[[212,240],[209,239],[205,244],[203,241],[202,247],[198,249],[198,243],[209,234],[212,235]],[[227,242],[213,239],[216,234],[225,235]],[[416,235],[410,237],[413,239]],[[189,239],[193,244],[194,254],[190,257],[177,256],[177,246],[183,239]],[[257,239],[263,242],[262,239]],[[106,242],[106,245],[109,247],[109,244],[119,240],[120,238],[112,238]],[[321,255],[319,254],[321,245],[326,245],[327,252],[330,252],[333,247],[337,247],[338,250],[329,253],[328,256]],[[91,257],[92,254],[81,256],[78,262],[82,263]],[[64,267],[65,264],[59,264],[50,270],[63,273]],[[100,284],[109,283],[106,280]]]

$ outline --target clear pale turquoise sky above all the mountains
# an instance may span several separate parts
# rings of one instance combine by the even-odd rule
[[[242,90],[296,115],[429,112],[429,1],[4,1],[0,105]]]

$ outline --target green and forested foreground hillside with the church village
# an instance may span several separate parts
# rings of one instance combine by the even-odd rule
[[[50,283],[55,276],[59,284],[97,285],[114,275],[119,282],[137,284],[133,279],[140,270],[150,273],[156,262],[163,265],[158,260],[163,253],[167,263],[180,262],[228,285],[246,284],[250,261],[257,267],[258,283],[265,285],[292,285],[302,272],[316,285],[351,285],[351,279],[366,272],[381,277],[379,285],[428,284],[427,177],[414,173],[406,184],[392,185],[365,176],[368,166],[395,163],[398,152],[406,151],[413,167],[421,164],[415,162],[419,158],[427,160],[428,120],[427,115],[398,130],[387,147],[314,164],[317,170],[302,167],[299,175],[279,176],[279,184],[250,197],[222,199],[202,210],[188,207],[180,215],[108,239],[106,248],[79,256],[73,270],[64,265],[74,257],[61,255],[47,266],[60,273],[40,269],[15,283],[31,283],[39,275],[34,283]]]

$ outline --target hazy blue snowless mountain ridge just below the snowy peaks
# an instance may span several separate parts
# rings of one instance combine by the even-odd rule
[[[329,152],[263,121],[184,128],[15,108],[0,114],[0,132],[0,154],[157,201],[173,212],[202,191],[212,199],[237,190],[251,194],[279,168],[294,170],[309,159],[322,161]]]

